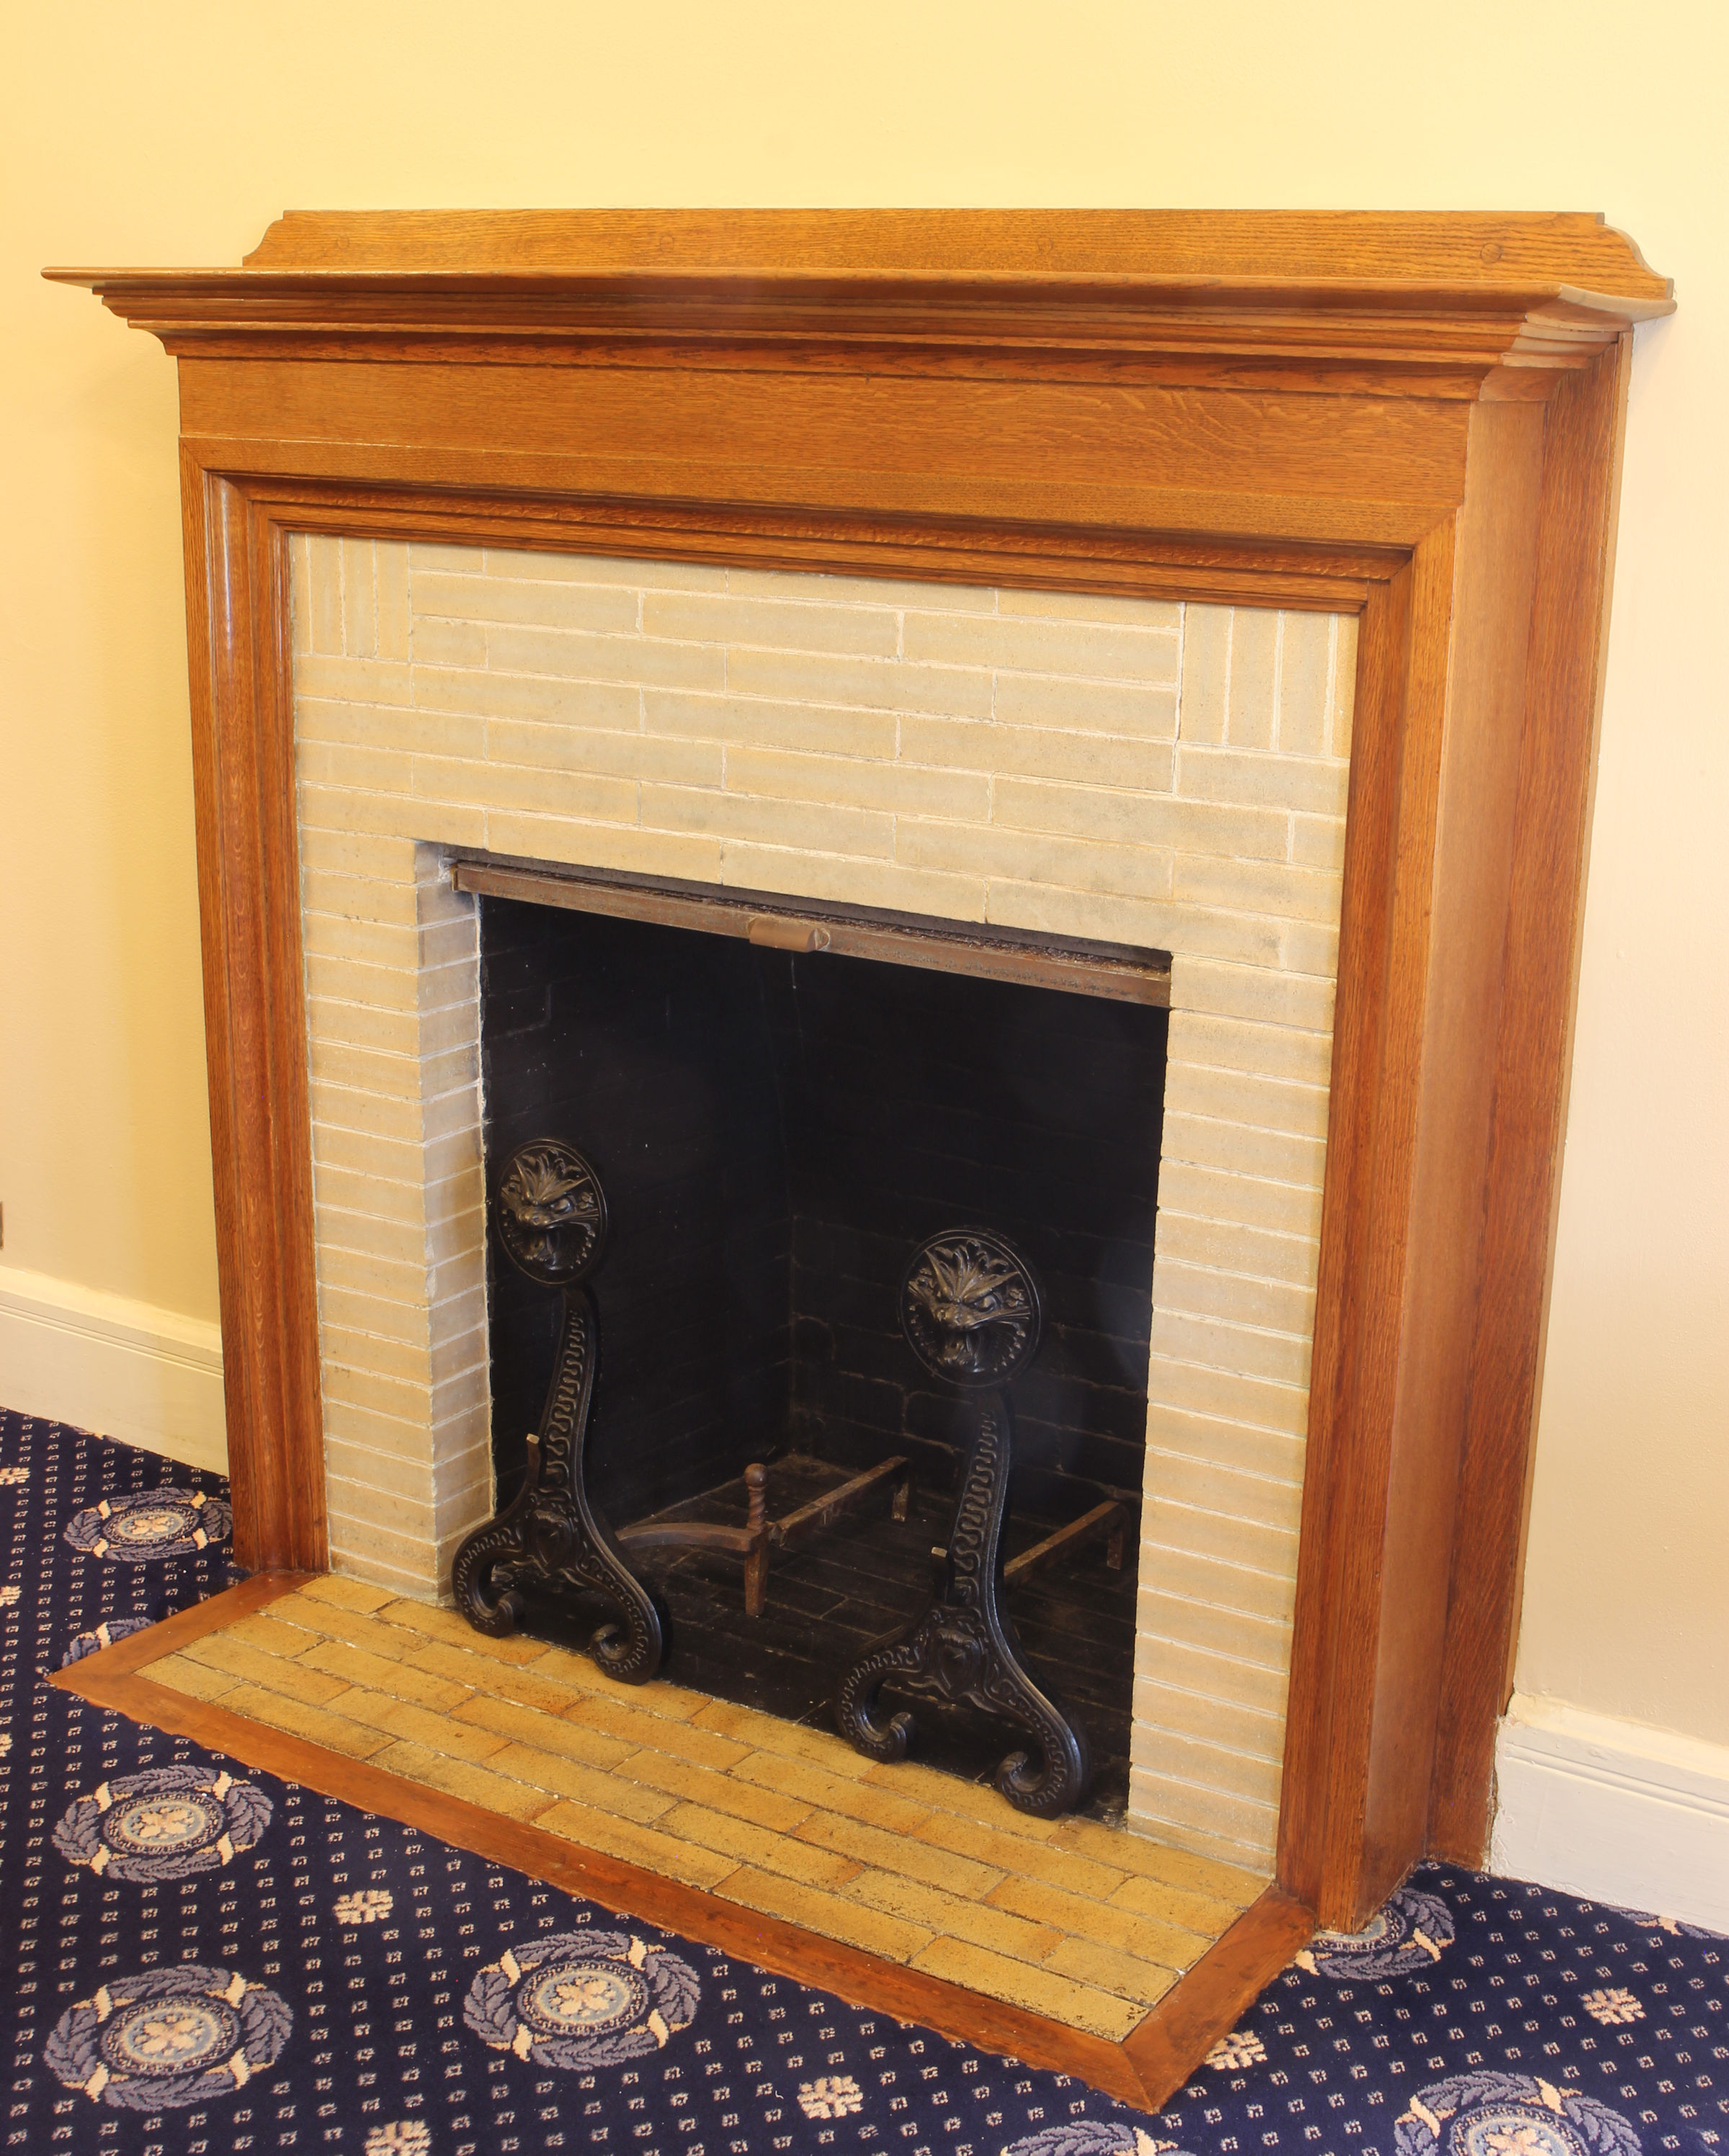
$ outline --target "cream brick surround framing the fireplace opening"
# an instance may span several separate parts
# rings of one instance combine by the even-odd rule
[[[1272,1869],[1347,617],[293,541],[332,1565],[492,1507],[474,901],[446,849],[1173,955],[1130,1824]]]

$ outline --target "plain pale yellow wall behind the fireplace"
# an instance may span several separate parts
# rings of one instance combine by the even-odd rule
[[[4,1266],[216,1311],[172,362],[43,263],[285,207],[1604,209],[1641,332],[1524,1690],[1729,1740],[1729,216],[1699,0],[19,9],[0,112]]]

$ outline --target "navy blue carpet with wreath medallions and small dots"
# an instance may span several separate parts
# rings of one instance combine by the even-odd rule
[[[0,1414],[4,2147],[1656,2156],[1729,2134],[1729,1940],[1429,1865],[1158,2117],[54,1692],[226,1578],[209,1475]]]

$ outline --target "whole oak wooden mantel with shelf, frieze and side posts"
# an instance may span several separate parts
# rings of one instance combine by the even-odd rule
[[[1278,1884],[1479,1861],[1630,332],[1587,216],[287,216],[179,360],[235,1533],[326,1561],[287,535],[1360,617]]]

